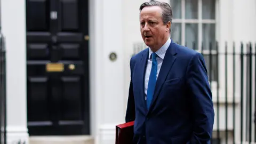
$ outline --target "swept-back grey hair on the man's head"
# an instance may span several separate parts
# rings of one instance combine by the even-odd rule
[[[144,7],[148,7],[148,6],[159,6],[159,7],[161,7],[161,9],[162,9],[162,19],[163,19],[164,25],[166,25],[167,22],[169,22],[169,21],[172,23],[172,8],[168,3],[158,2],[158,1],[145,2],[145,3],[142,3],[140,5],[140,11]],[[169,29],[169,31],[171,33],[171,28]]]

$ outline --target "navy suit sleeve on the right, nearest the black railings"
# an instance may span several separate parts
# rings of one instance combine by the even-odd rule
[[[194,130],[188,143],[210,144],[214,123],[214,109],[205,61],[200,53],[195,54],[189,62],[187,85],[194,118]]]

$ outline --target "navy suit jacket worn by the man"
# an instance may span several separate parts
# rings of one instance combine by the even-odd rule
[[[214,110],[202,54],[172,41],[147,109],[144,78],[148,53],[145,49],[130,61],[125,121],[134,121],[134,143],[210,143]]]

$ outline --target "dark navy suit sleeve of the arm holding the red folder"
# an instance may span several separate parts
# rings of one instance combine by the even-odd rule
[[[127,109],[125,115],[125,122],[131,122],[135,120],[135,102],[134,102],[134,95],[133,95],[133,85],[132,85],[132,73],[133,73],[133,61],[132,58],[130,60],[130,69],[131,69],[131,81],[129,86],[129,96],[127,101]]]

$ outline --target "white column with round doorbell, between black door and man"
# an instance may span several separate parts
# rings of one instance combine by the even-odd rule
[[[115,125],[124,122],[123,13],[120,0],[91,0],[91,120],[96,143],[115,143]],[[117,54],[110,61],[109,54]],[[94,129],[96,131],[94,131]]]

